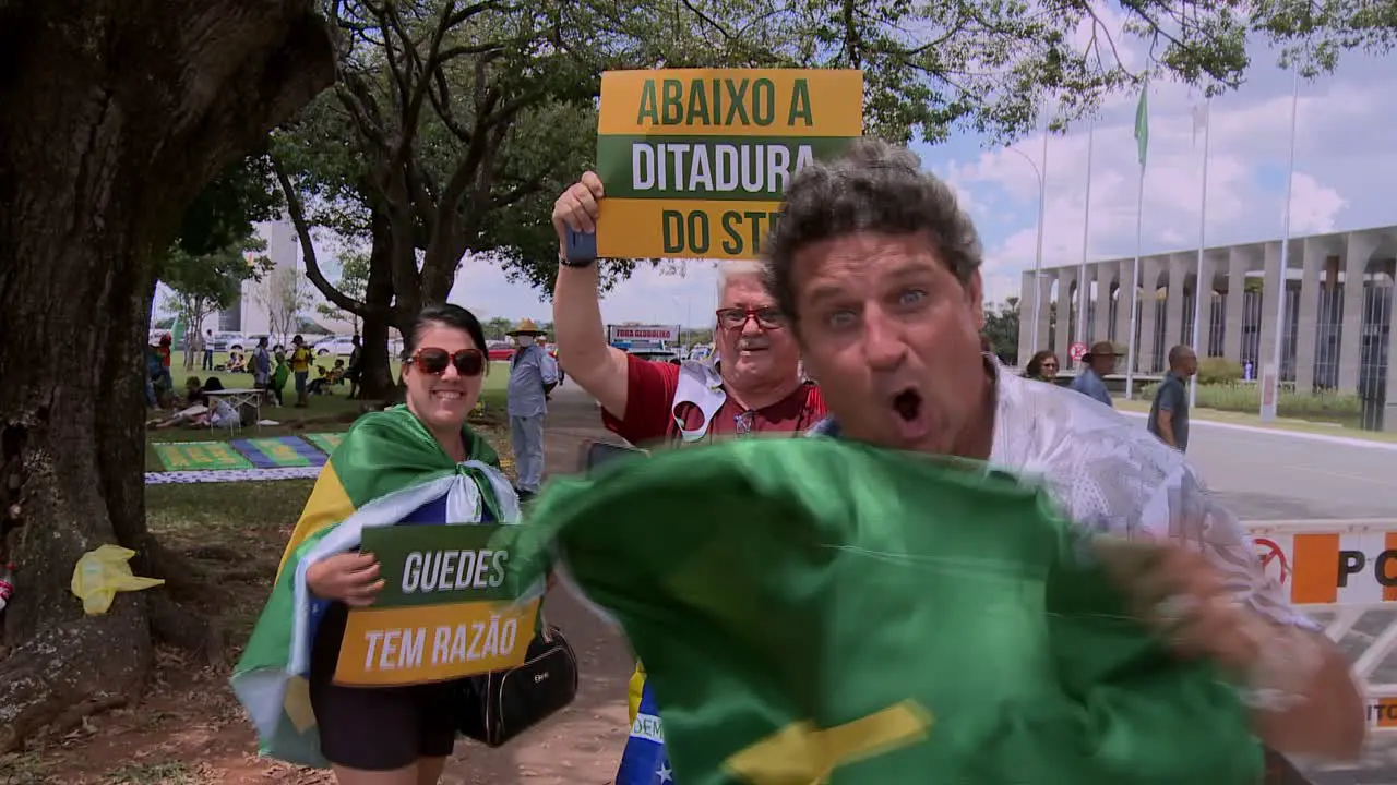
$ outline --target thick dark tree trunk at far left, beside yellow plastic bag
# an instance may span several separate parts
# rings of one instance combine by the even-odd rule
[[[212,648],[177,606],[200,587],[145,527],[156,263],[204,186],[332,68],[312,0],[0,4],[0,433],[24,478],[0,753],[134,698],[152,634]],[[68,581],[103,543],[166,587],[85,616]]]

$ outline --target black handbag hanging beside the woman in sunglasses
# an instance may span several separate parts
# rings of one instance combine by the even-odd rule
[[[563,631],[543,623],[524,663],[462,682],[457,729],[499,747],[577,697],[577,655]]]

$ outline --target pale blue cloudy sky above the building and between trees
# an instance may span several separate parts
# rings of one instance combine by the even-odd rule
[[[1129,67],[1141,60],[1129,47]],[[1252,70],[1239,89],[1208,108],[1208,183],[1204,225],[1208,246],[1277,239],[1282,233],[1291,142],[1294,80],[1277,52],[1253,43]],[[1299,84],[1291,235],[1397,223],[1397,57],[1350,54],[1334,74]],[[1046,156],[1044,267],[1080,264],[1084,222],[1088,260],[1136,253],[1134,109],[1139,94],[1116,95],[1094,123],[1083,120],[1052,135]],[[1144,182],[1141,251],[1199,247],[1204,134],[1194,134],[1200,95],[1169,82],[1150,91],[1150,152]],[[1087,215],[1088,127],[1091,210]],[[1011,148],[978,135],[914,145],[923,168],[947,180],[979,229],[985,249],[985,296],[1017,296],[1021,272],[1034,267],[1042,134]],[[1031,161],[1031,163],[1030,163]],[[644,267],[602,300],[606,323],[711,324],[717,263]],[[682,271],[683,275],[678,272]],[[468,260],[450,300],[482,318],[550,320],[550,305],[525,284],[510,284],[488,263]]]

